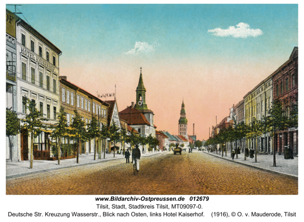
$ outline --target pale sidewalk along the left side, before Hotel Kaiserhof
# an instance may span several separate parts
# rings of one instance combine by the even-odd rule
[[[160,152],[150,152],[141,154],[142,157],[152,156],[164,153]],[[94,153],[79,155],[79,163],[76,163],[76,158],[60,160],[60,165],[58,165],[58,160],[33,160],[33,168],[29,168],[29,160],[11,162],[7,160],[6,162],[6,179],[24,176],[33,173],[47,172],[55,169],[69,168],[74,166],[84,166],[89,164],[107,162],[111,160],[125,159],[122,154],[105,154],[105,159],[103,159],[103,153],[101,154],[101,159],[98,159],[98,154],[96,154],[96,160],[94,160]],[[130,161],[132,157],[130,156]]]

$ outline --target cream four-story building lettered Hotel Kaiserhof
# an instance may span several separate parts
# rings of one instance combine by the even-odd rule
[[[55,124],[59,111],[59,56],[61,51],[32,26],[19,18],[16,22],[17,114],[25,119],[27,99],[35,102],[41,115]],[[50,158],[49,130],[34,138],[34,159]],[[18,136],[19,159],[29,158],[30,140],[26,129]]]

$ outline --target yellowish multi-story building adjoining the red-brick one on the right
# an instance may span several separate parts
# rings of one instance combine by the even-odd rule
[[[244,96],[245,123],[250,125],[253,119],[262,120],[268,116],[273,101],[272,75],[265,78],[253,90]],[[250,134],[250,133],[249,133]],[[256,147],[258,153],[270,153],[272,142],[270,134],[263,134],[256,139],[247,140],[247,146]]]

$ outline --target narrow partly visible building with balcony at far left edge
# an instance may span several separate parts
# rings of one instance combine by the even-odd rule
[[[19,17],[6,10],[6,107],[17,112],[17,51],[16,22]],[[6,138],[6,158],[18,160],[17,136]]]

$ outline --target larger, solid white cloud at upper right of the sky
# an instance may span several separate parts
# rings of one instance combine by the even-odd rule
[[[213,32],[213,35],[227,37],[232,36],[235,38],[247,38],[248,36],[257,37],[262,35],[263,32],[260,29],[250,29],[250,26],[246,23],[239,23],[235,26],[229,26],[227,29],[215,28],[210,29],[208,32]]]

